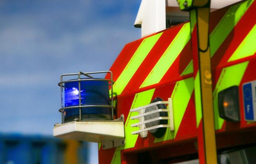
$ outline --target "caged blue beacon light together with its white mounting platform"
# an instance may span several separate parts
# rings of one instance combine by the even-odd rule
[[[94,74],[110,78],[94,78]],[[61,75],[61,124],[54,124],[53,136],[102,143],[103,149],[124,145],[124,115],[114,117],[113,84],[111,71]]]

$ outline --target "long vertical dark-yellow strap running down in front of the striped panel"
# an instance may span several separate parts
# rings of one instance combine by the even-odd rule
[[[197,31],[199,49],[200,98],[202,102],[202,122],[205,163],[217,164],[217,149],[212,101],[211,55],[208,47],[210,8],[197,8]],[[198,84],[195,84],[198,85]]]

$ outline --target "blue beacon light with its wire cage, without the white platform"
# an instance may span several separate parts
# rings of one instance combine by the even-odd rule
[[[78,78],[59,83],[61,87],[61,106],[62,122],[89,121],[89,120],[113,120],[113,80],[93,78],[88,74],[111,73],[94,72],[78,73],[87,78]],[[76,75],[76,74],[64,74]],[[112,73],[111,73],[112,77]],[[109,98],[109,82],[111,84],[111,105]],[[80,83],[80,102],[79,102],[79,83]],[[80,104],[80,106],[79,106]],[[81,110],[80,110],[81,109]],[[81,114],[80,114],[81,112]]]

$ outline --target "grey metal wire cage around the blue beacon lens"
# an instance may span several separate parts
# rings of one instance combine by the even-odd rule
[[[102,73],[110,73],[111,79],[92,79],[93,77],[89,75],[89,74],[102,74]],[[63,81],[64,76],[73,76],[73,75],[78,75],[78,79]],[[89,79],[81,79],[81,75],[89,77]],[[109,81],[110,82],[109,85],[111,86],[111,105],[81,105],[81,81]],[[64,87],[63,84],[68,83],[68,82],[78,82],[79,106],[69,106],[69,107],[63,106],[63,87]],[[60,94],[61,94],[61,109],[59,109],[59,112],[61,112],[61,124],[64,123],[63,110],[72,109],[72,108],[79,108],[79,120],[78,121],[82,121],[82,108],[89,108],[89,107],[111,108],[112,120],[114,120],[114,109],[116,107],[113,106],[113,83],[114,83],[114,81],[113,81],[113,75],[112,75],[111,71],[99,71],[99,72],[89,72],[89,73],[83,73],[83,72],[79,71],[78,73],[74,73],[74,74],[62,74],[60,76],[60,82],[58,83],[58,85],[60,86]]]

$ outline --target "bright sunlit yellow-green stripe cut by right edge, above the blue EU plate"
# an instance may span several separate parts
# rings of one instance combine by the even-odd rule
[[[238,46],[234,54],[229,58],[229,62],[254,55],[256,52],[255,43],[256,43],[256,25],[244,38],[244,40]]]

